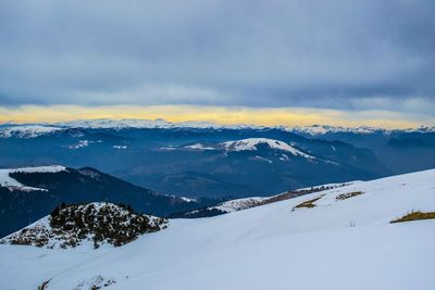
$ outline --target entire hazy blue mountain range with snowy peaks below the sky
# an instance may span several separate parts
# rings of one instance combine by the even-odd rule
[[[0,126],[0,167],[90,166],[189,198],[272,196],[435,166],[435,129],[96,119]],[[120,162],[122,161],[122,162]]]

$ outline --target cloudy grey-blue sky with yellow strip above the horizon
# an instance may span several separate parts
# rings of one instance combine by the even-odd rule
[[[0,122],[435,125],[433,0],[2,0]]]

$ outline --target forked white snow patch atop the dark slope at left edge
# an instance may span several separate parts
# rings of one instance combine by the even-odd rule
[[[18,189],[22,191],[42,190],[44,188],[27,187],[12,178],[9,174],[11,173],[58,173],[66,171],[64,166],[50,165],[50,166],[36,166],[36,167],[22,167],[22,168],[1,168],[0,169],[0,186],[8,187],[10,189]]]

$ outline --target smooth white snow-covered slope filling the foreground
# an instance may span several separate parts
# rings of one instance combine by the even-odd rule
[[[412,210],[435,211],[435,169],[173,219],[121,248],[3,244],[0,289],[433,290],[435,220],[389,224]]]

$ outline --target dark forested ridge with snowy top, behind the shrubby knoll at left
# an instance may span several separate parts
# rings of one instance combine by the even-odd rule
[[[109,201],[133,205],[140,213],[166,216],[195,210],[211,200],[158,194],[97,169],[63,166],[0,169],[0,237],[47,215],[60,204]]]

